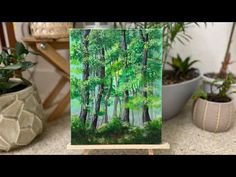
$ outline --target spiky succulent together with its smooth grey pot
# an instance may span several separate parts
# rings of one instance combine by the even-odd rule
[[[191,98],[198,86],[200,72],[193,68],[197,60],[190,57],[182,59],[179,55],[167,62],[172,69],[163,72],[163,118],[169,119],[179,113],[186,102]]]

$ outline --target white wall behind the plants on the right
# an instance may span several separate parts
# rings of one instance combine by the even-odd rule
[[[224,59],[231,27],[232,23],[219,22],[207,23],[206,27],[203,23],[200,23],[200,27],[193,25],[193,27],[187,30],[192,40],[186,45],[176,42],[170,55],[175,56],[179,53],[182,57],[191,56],[192,59],[200,60],[195,66],[198,67],[202,73],[217,72]],[[233,36],[230,50],[232,60],[236,60],[235,40],[236,34]],[[236,71],[236,64],[232,64],[230,70],[232,72]]]

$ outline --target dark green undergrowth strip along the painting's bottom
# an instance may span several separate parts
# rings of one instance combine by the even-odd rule
[[[144,127],[132,126],[113,118],[98,129],[93,129],[79,116],[73,116],[71,138],[73,144],[157,144],[161,142],[161,124],[160,117],[145,123]]]

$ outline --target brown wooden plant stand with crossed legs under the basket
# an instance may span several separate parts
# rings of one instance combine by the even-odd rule
[[[28,44],[34,51],[39,52],[47,61],[55,66],[61,73],[61,79],[56,86],[49,93],[48,97],[43,102],[45,109],[49,108],[54,98],[59,94],[62,88],[70,79],[70,67],[67,59],[62,57],[56,50],[68,49],[69,39],[35,39],[34,37],[23,38],[23,41]],[[56,120],[64,112],[65,108],[70,102],[70,91],[68,91],[63,98],[59,101],[57,107],[49,115],[48,121]]]

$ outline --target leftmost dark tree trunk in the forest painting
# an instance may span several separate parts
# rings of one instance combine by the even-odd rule
[[[89,36],[90,30],[84,30],[83,34],[83,45],[84,45],[84,59],[83,59],[83,81],[89,80]],[[89,106],[89,89],[87,86],[83,87],[83,96],[82,96],[82,106],[80,111],[80,119],[82,122],[86,122],[87,114],[88,114],[88,106]]]

